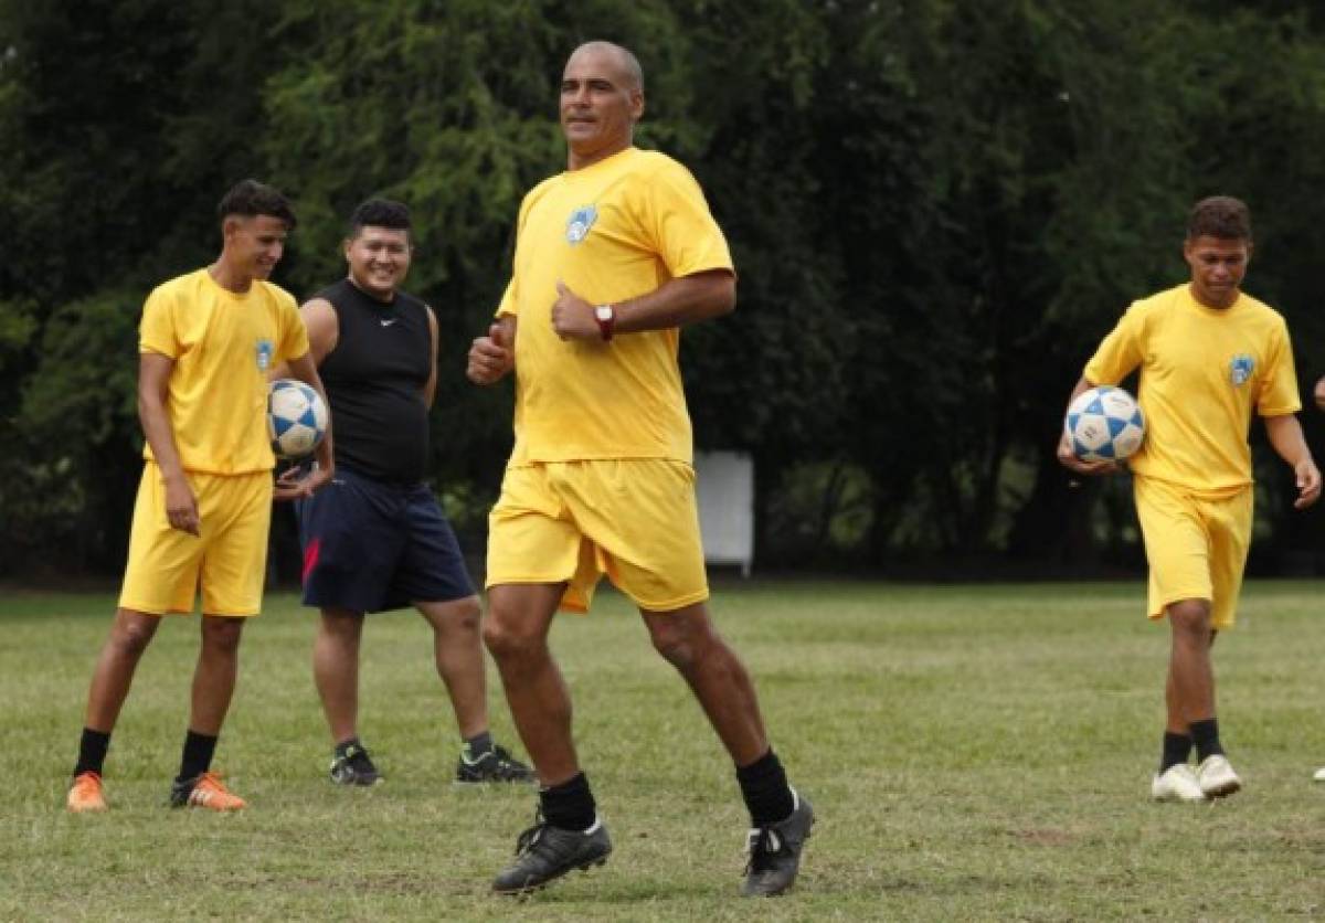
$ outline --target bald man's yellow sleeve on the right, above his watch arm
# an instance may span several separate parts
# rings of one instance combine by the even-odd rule
[[[734,271],[727,238],[690,171],[668,159],[647,189],[644,230],[672,278],[709,269]]]

